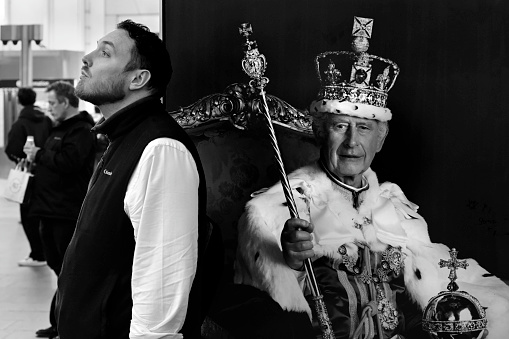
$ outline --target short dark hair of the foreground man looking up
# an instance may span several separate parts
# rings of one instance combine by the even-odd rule
[[[170,54],[164,42],[157,34],[150,32],[147,26],[131,20],[122,21],[117,28],[127,31],[135,45],[131,51],[131,60],[124,71],[148,70],[151,75],[148,88],[155,89],[161,96],[164,95],[172,74]]]

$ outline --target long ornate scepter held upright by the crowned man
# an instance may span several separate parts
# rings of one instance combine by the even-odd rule
[[[295,204],[295,199],[293,198],[293,194],[290,189],[290,183],[288,181],[288,177],[286,175],[286,171],[283,165],[283,159],[281,157],[281,152],[279,150],[278,142],[276,139],[276,133],[274,132],[274,127],[272,125],[272,119],[269,113],[267,98],[265,97],[264,88],[269,82],[269,79],[267,77],[264,77],[263,73],[265,72],[265,68],[267,67],[267,61],[265,60],[265,56],[263,54],[260,54],[260,52],[258,51],[256,41],[249,39],[250,35],[253,34],[253,28],[251,27],[251,24],[243,23],[239,28],[239,33],[246,39],[246,42],[244,43],[245,56],[242,59],[242,69],[251,78],[251,80],[249,81],[249,86],[253,89],[258,89],[260,92],[260,96],[262,97],[263,109],[260,109],[260,111],[264,115],[265,123],[267,124],[268,127],[270,143],[274,151],[274,158],[277,162],[281,185],[283,186],[283,191],[288,205],[288,210],[290,211],[290,216],[292,218],[299,218],[297,205]],[[309,287],[311,289],[312,300],[314,303],[313,306],[316,312],[316,316],[318,318],[317,320],[320,325],[320,329],[322,331],[322,338],[334,339],[335,336],[332,331],[332,324],[330,322],[329,314],[327,313],[325,303],[323,302],[323,296],[321,295],[320,290],[318,288],[318,284],[316,282],[316,277],[313,272],[313,265],[311,263],[311,259],[308,258],[304,261],[304,268],[306,270],[306,277],[308,280]]]

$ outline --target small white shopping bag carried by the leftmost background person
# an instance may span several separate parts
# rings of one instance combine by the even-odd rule
[[[28,171],[28,167],[24,159],[10,170],[4,191],[5,199],[19,204],[25,204],[30,200],[30,183],[33,175]]]

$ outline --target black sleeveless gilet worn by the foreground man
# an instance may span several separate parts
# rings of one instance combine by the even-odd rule
[[[182,142],[199,173],[199,237],[206,219],[206,184],[198,152],[156,97],[144,98],[94,129],[110,145],[83,202],[58,279],[56,319],[62,338],[129,338],[132,310],[133,226],[124,212],[129,179],[147,144],[168,137]],[[198,253],[200,260],[200,251]],[[199,284],[195,278],[184,328],[199,333]],[[198,287],[197,287],[198,286]],[[193,297],[193,293],[196,294]],[[194,335],[183,333],[186,338]]]

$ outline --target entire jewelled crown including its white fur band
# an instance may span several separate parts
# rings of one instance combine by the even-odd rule
[[[329,51],[316,56],[321,88],[310,105],[312,115],[327,112],[391,120],[387,96],[399,67],[391,60],[367,53],[372,31],[373,19],[354,17],[353,51]]]

